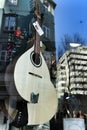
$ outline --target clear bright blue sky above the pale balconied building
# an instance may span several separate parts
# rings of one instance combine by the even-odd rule
[[[56,55],[63,49],[61,38],[78,33],[87,41],[87,0],[54,0]]]

